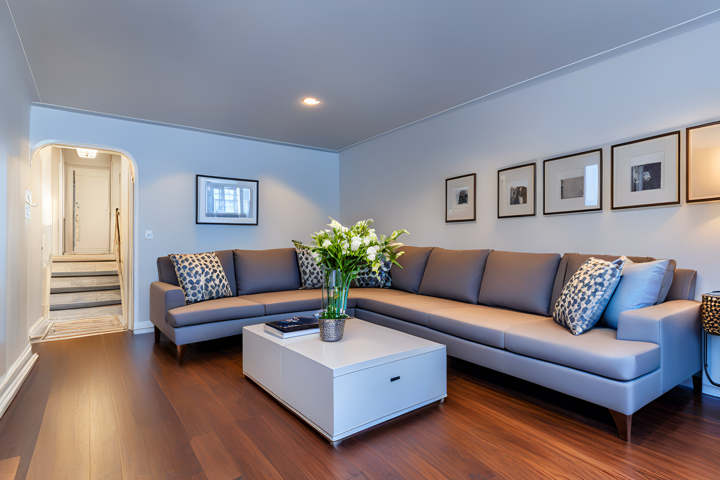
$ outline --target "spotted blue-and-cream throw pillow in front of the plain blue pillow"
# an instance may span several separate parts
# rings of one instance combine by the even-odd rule
[[[555,323],[572,335],[593,328],[620,282],[625,260],[624,256],[613,262],[588,258],[562,289],[552,314]]]

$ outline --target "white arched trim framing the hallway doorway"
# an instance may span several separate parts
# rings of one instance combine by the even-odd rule
[[[130,251],[132,251],[132,262],[130,262],[130,275],[127,276],[129,288],[126,291],[127,298],[125,299],[127,302],[127,318],[125,318],[125,322],[127,325],[127,330],[135,330],[135,319],[139,318],[140,313],[140,305],[136,301],[140,298],[140,255],[138,254],[140,231],[137,228],[139,217],[138,206],[140,204],[140,202],[138,201],[138,197],[140,194],[138,189],[138,162],[135,161],[135,158],[130,155],[130,153],[128,153],[126,150],[122,150],[122,148],[109,147],[107,145],[96,145],[94,143],[64,142],[61,140],[43,140],[42,142],[37,142],[35,146],[33,146],[30,150],[31,166],[32,160],[35,159],[35,155],[37,155],[37,153],[40,152],[42,148],[48,146],[60,148],[91,148],[93,150],[105,150],[107,152],[114,152],[120,155],[125,155],[127,160],[130,161],[129,184],[130,188],[132,189],[132,195],[129,196],[129,199],[130,201],[132,201],[132,205],[130,205],[132,215],[128,215],[128,217],[132,218],[132,225],[127,225],[126,228],[129,229],[128,238],[130,238],[132,241],[132,245],[130,248]],[[150,322],[143,322],[143,324],[144,323],[149,324]],[[145,325],[143,325],[143,327],[145,327]],[[152,325],[149,325],[148,327],[151,328]]]

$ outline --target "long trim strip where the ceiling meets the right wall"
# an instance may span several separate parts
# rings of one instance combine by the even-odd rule
[[[715,17],[718,17],[716,19],[712,19],[710,16],[714,15]],[[705,20],[705,22],[700,22],[701,20]],[[412,124],[416,124],[418,122],[424,122],[427,119],[431,119],[433,117],[437,117],[441,114],[446,114],[448,112],[451,112],[452,110],[459,109],[461,107],[469,107],[470,104],[474,103],[482,103],[484,101],[489,101],[492,99],[495,99],[499,96],[511,94],[516,91],[520,91],[522,89],[527,89],[531,86],[538,85],[539,83],[544,83],[545,81],[553,80],[554,78],[559,78],[564,75],[568,75],[570,73],[580,71],[583,68],[588,68],[592,65],[596,65],[598,63],[604,62],[606,60],[610,60],[611,58],[618,57],[620,55],[624,55],[626,53],[631,53],[635,50],[640,50],[644,47],[649,47],[650,45],[654,45],[655,43],[662,42],[663,40],[668,40],[672,37],[677,37],[678,35],[682,35],[683,33],[690,32],[692,30],[696,30],[700,27],[704,27],[705,25],[718,22],[720,20],[720,9],[713,10],[712,12],[708,12],[706,14],[702,14],[698,17],[686,20],[685,22],[680,22],[679,24],[672,25],[672,27],[667,27],[663,30],[659,30],[657,32],[651,33],[649,35],[645,35],[644,37],[640,37],[636,40],[632,40],[631,42],[626,42],[623,45],[618,45],[617,47],[612,47],[609,50],[605,50],[600,53],[595,53],[594,55],[590,55],[589,57],[582,58],[580,60],[577,60],[572,63],[568,63],[567,65],[563,65],[562,67],[555,68],[554,70],[547,71],[545,73],[541,73],[540,75],[536,75],[531,78],[527,78],[526,80],[519,81],[518,83],[513,83],[513,85],[509,85],[506,87],[503,87],[502,89],[495,90],[490,92],[489,94],[485,94],[483,96],[477,97],[477,99],[468,100],[462,104],[455,105],[454,107],[450,107],[449,109],[441,110],[441,112],[436,112],[431,115],[428,115],[427,117],[423,117],[417,120],[413,120],[413,122],[400,125],[400,127],[395,127],[392,130],[387,130],[387,132],[382,132],[377,135],[373,135],[372,137],[368,137],[365,140],[360,140],[359,142],[355,142],[352,145],[348,145],[347,147],[343,147],[338,151],[338,153],[343,152],[343,150],[347,150],[348,148],[352,148],[356,145],[360,145],[361,143],[368,142],[369,140],[372,140],[377,137],[382,137],[382,135],[387,135],[390,132],[395,132],[395,130],[400,130],[405,127],[409,127]],[[661,34],[667,34],[673,29],[679,29],[680,27],[687,27],[693,22],[698,22],[697,25],[691,25],[690,28],[685,28],[685,30],[680,29],[678,32],[674,33],[674,35],[661,35]],[[657,38],[657,40],[655,40]],[[655,40],[655,41],[650,41]],[[587,65],[585,65],[587,63]]]

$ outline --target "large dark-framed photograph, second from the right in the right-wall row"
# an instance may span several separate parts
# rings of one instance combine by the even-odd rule
[[[613,145],[610,208],[680,204],[680,131]]]

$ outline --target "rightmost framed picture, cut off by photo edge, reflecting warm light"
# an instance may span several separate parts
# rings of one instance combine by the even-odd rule
[[[685,131],[685,201],[720,200],[720,122]]]

